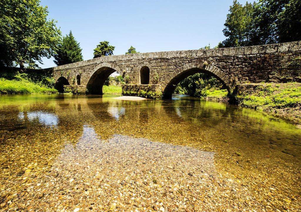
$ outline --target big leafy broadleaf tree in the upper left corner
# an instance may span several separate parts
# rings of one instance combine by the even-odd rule
[[[36,61],[50,58],[56,50],[61,31],[55,20],[47,20],[47,6],[39,0],[0,1],[0,52],[5,54],[4,65],[24,64],[38,67]]]

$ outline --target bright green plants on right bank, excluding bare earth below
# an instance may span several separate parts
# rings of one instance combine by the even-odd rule
[[[241,106],[250,108],[291,108],[301,104],[301,87],[295,87],[294,83],[284,87],[260,86],[254,94],[237,96],[237,100]]]

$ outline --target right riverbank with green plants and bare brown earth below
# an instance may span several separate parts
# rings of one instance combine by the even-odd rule
[[[301,83],[258,84],[251,94],[240,94],[236,99],[240,106],[301,124]]]

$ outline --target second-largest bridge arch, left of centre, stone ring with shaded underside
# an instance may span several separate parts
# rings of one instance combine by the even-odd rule
[[[88,93],[102,95],[102,87],[104,82],[107,80],[110,74],[115,71],[121,73],[121,69],[113,63],[104,62],[97,65],[93,71],[91,71],[89,76],[89,81],[86,87]]]

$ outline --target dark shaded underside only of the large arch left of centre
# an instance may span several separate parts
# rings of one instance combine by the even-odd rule
[[[87,84],[87,90],[89,94],[102,95],[102,87],[104,82],[114,73],[116,70],[110,67],[101,67],[92,74]]]

